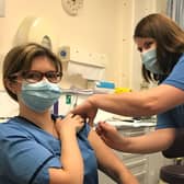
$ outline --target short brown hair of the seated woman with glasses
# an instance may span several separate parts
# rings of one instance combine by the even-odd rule
[[[62,72],[62,66],[59,57],[57,57],[57,55],[55,55],[50,49],[39,44],[27,43],[24,45],[19,45],[13,47],[7,54],[2,67],[2,79],[7,92],[13,100],[18,101],[18,96],[16,94],[12,93],[11,90],[9,90],[9,88],[7,88],[7,81],[9,80],[9,77],[22,70],[30,70],[32,61],[39,56],[49,58],[56,67],[56,70]]]

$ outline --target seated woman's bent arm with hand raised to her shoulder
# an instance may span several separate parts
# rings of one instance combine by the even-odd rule
[[[83,126],[82,118],[78,115],[68,115],[62,120],[57,120],[56,129],[61,140],[60,162],[61,169],[49,169],[49,184],[82,184],[83,159],[77,141],[77,129]]]

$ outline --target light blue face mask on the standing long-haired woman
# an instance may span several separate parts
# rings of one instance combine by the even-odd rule
[[[157,64],[156,49],[151,49],[147,53],[142,53],[141,59],[147,70],[156,74],[163,74],[163,72],[159,69],[159,66]]]

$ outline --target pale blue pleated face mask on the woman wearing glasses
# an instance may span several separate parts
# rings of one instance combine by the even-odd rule
[[[51,107],[60,97],[61,90],[56,83],[41,81],[36,83],[22,83],[19,97],[35,112],[44,112]]]

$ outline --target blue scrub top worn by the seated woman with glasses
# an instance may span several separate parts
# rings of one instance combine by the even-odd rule
[[[97,184],[89,131],[85,124],[77,138],[84,161],[84,184]],[[19,116],[0,124],[0,184],[49,184],[48,168],[61,168],[60,140]]]

